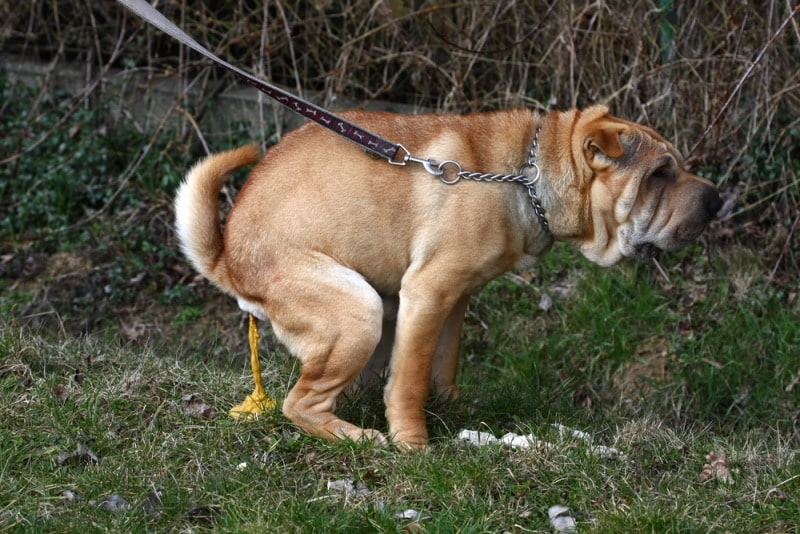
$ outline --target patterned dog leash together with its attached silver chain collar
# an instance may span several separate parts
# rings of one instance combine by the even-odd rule
[[[361,128],[338,115],[327,111],[303,98],[289,93],[280,87],[267,83],[249,74],[242,69],[228,63],[206,47],[192,39],[186,32],[181,30],[171,20],[162,15],[156,8],[144,0],[117,0],[120,4],[134,12],[136,15],[152,24],[167,35],[177,39],[192,50],[199,52],[215,63],[222,65],[226,69],[236,74],[242,81],[255,87],[259,91],[269,95],[280,104],[288,107],[292,111],[299,113],[303,117],[310,119],[324,128],[341,135],[359,145],[368,154],[384,158],[392,165],[405,166],[409,162],[422,165],[425,170],[447,185],[455,184],[461,180],[473,180],[479,182],[514,182],[523,185],[528,191],[536,218],[546,234],[550,234],[550,226],[545,217],[545,210],[536,194],[536,184],[541,177],[541,169],[536,163],[536,147],[538,145],[539,131],[536,130],[534,139],[528,153],[528,160],[520,167],[517,174],[491,174],[465,171],[457,161],[446,160],[437,163],[433,159],[418,158],[400,143],[393,143],[374,133]],[[533,177],[526,175],[527,171],[535,171]]]

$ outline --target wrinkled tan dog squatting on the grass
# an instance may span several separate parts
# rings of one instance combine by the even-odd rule
[[[670,143],[602,106],[546,115],[342,116],[415,155],[481,172],[517,172],[538,131],[536,187],[550,232],[521,185],[446,185],[421,165],[370,158],[309,123],[252,170],[223,238],[220,188],[231,171],[255,163],[258,151],[240,148],[196,165],[175,201],[182,248],[243,310],[269,318],[302,362],[283,413],[326,438],[383,441],[380,432],[339,419],[334,408],[373,353],[371,370],[388,359],[376,348],[390,348],[389,435],[424,446],[431,388],[457,394],[471,293],[531,265],[554,239],[601,265],[678,249],[700,235],[720,205],[716,189],[689,173]]]

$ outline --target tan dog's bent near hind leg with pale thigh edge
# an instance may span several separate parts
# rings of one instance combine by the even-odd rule
[[[336,398],[380,341],[381,297],[359,274],[332,261],[293,267],[291,273],[274,277],[266,299],[275,334],[302,364],[300,378],[283,402],[284,415],[306,432],[328,439],[385,441],[380,432],[334,413]]]

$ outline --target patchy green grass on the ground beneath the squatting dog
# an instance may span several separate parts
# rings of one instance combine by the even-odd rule
[[[797,307],[755,289],[739,300],[723,257],[688,254],[694,263],[666,264],[674,285],[649,265],[603,271],[566,248],[530,283],[490,284],[468,314],[462,398],[432,401],[433,446],[420,454],[322,442],[277,413],[229,419],[249,387],[244,352],[204,362],[166,340],[142,347],[4,322],[0,529],[529,532],[547,531],[548,507],[564,504],[580,531],[795,531]],[[679,268],[702,289],[677,280]],[[554,295],[549,311],[543,292]],[[276,348],[269,358],[268,389],[283,395],[294,362]],[[216,415],[192,415],[187,395]],[[383,424],[377,394],[342,404],[354,421]],[[592,455],[555,423],[626,458]],[[455,441],[461,428],[557,446],[477,448]],[[727,454],[733,484],[701,480],[711,451]],[[110,495],[131,508],[91,504]],[[401,518],[409,509],[420,518]]]

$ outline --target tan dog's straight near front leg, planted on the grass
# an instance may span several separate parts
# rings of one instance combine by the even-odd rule
[[[409,448],[428,443],[425,402],[442,329],[459,294],[431,291],[427,284],[400,291],[400,310],[384,400],[389,433]]]

